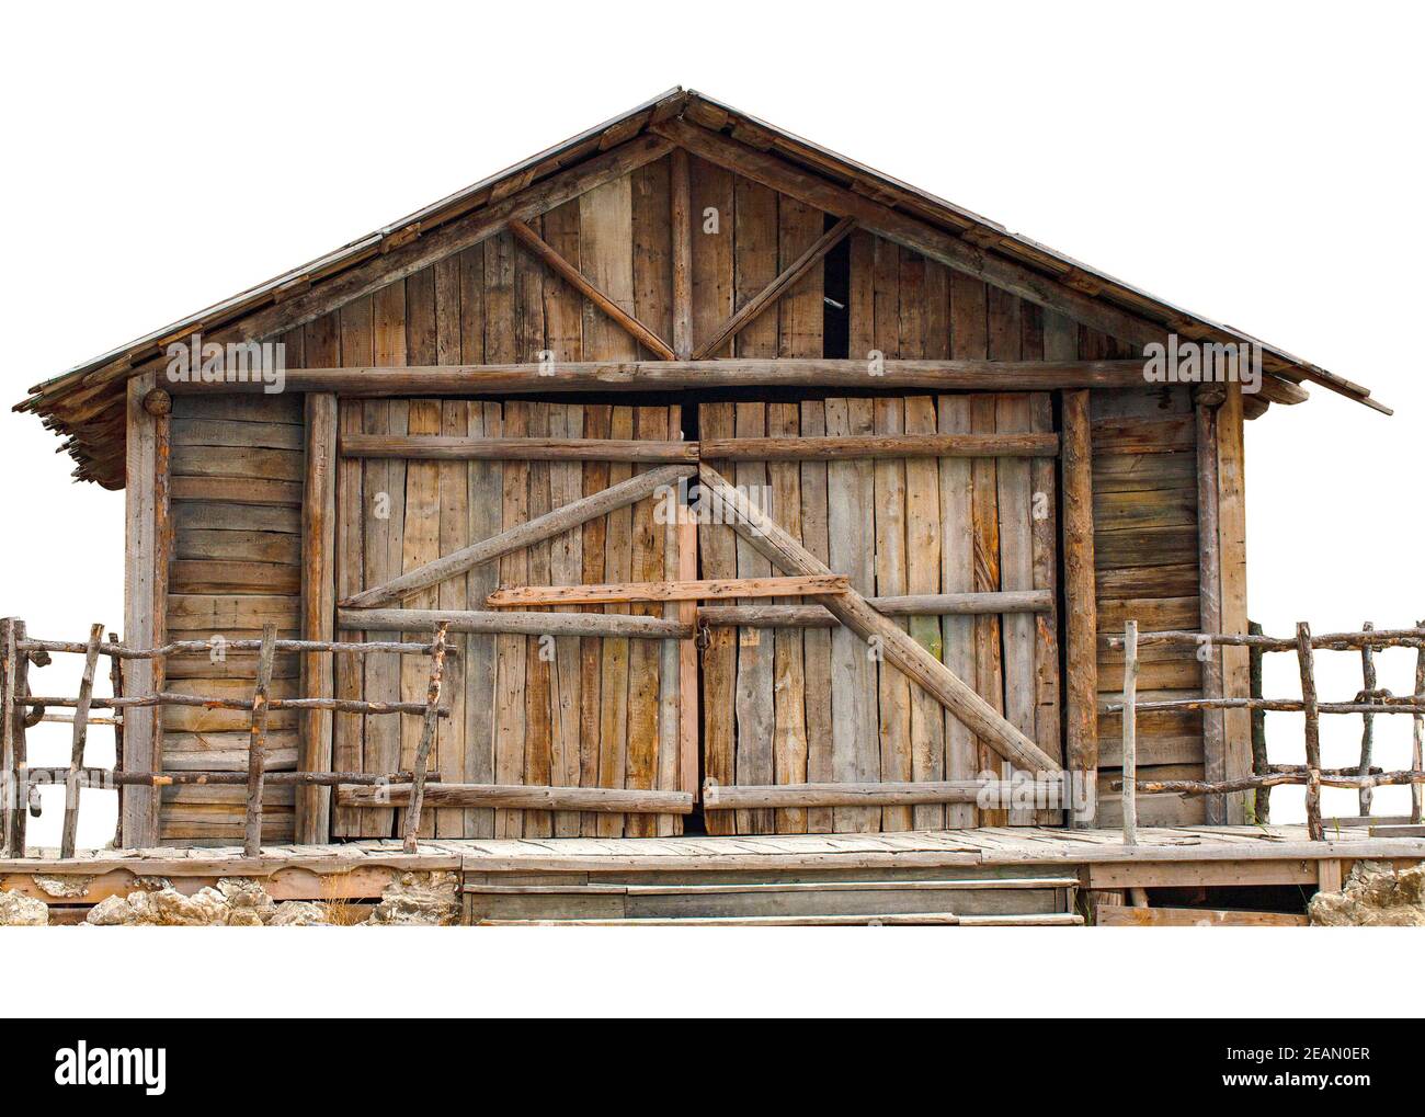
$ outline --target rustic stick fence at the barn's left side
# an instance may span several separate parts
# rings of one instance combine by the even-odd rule
[[[87,641],[34,640],[26,634],[24,621],[4,618],[0,621],[0,655],[3,655],[3,767],[0,767],[0,828],[3,828],[3,851],[0,856],[23,856],[26,848],[26,815],[38,816],[40,788],[64,785],[64,826],[60,839],[60,856],[71,858],[78,833],[80,789],[84,786],[117,788],[123,795],[125,786],[174,786],[182,784],[245,785],[247,812],[244,819],[244,849],[248,856],[261,852],[262,841],[262,789],[265,785],[291,786],[338,786],[338,785],[406,785],[409,805],[405,824],[405,848],[415,852],[416,836],[420,833],[420,812],[428,781],[439,781],[439,772],[429,771],[430,747],[435,741],[439,718],[449,715],[449,708],[440,704],[442,675],[446,655],[453,654],[446,640],[447,625],[433,625],[430,643],[413,641],[368,641],[333,643],[328,640],[278,640],[276,625],[268,624],[261,640],[228,640],[225,651],[258,653],[256,678],[251,698],[177,694],[154,691],[145,694],[124,694],[124,663],[131,660],[162,660],[184,653],[207,653],[212,644],[205,640],[180,640],[157,648],[133,648],[118,643],[111,633],[103,640],[104,627],[90,628]],[[34,694],[30,687],[30,668],[50,664],[51,653],[73,653],[84,657],[84,674],[80,691],[74,697]],[[268,690],[272,681],[272,663],[278,653],[323,653],[331,655],[429,655],[430,681],[425,702],[372,702],[353,698],[274,698]],[[100,657],[110,660],[113,697],[94,694],[94,677]],[[248,771],[182,771],[182,772],[131,772],[123,764],[123,711],[141,707],[201,707],[205,710],[251,711],[248,738]],[[53,710],[71,710],[73,714],[54,714]],[[111,717],[95,717],[93,711],[110,710]],[[420,741],[415,762],[409,772],[335,772],[335,771],[265,771],[268,712],[272,710],[331,710],[342,714],[362,715],[415,715],[422,718]],[[26,729],[41,721],[57,721],[73,725],[70,762],[66,768],[31,768],[27,764]],[[115,734],[114,769],[88,768],[84,764],[84,747],[90,725],[113,727]],[[123,816],[123,811],[120,811]]]

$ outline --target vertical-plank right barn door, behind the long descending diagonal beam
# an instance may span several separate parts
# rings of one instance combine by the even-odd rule
[[[1052,432],[1046,393],[704,403],[700,440]],[[1000,594],[972,613],[898,615],[909,634],[1052,758],[1062,758],[1053,457],[721,460],[714,469],[865,597]],[[700,527],[703,577],[768,560]],[[923,782],[1006,764],[845,627],[714,627],[703,745],[722,785]],[[1054,824],[1057,811],[973,804],[710,811],[711,833],[824,833]]]

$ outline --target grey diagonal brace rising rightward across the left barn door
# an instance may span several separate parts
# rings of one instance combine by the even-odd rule
[[[677,484],[680,479],[691,477],[695,472],[693,466],[664,466],[661,469],[651,469],[647,473],[637,473],[626,482],[613,484],[608,489],[600,489],[597,493],[576,500],[573,504],[564,504],[560,509],[554,509],[554,511],[510,527],[482,543],[475,543],[423,566],[418,566],[415,570],[388,583],[372,586],[359,594],[352,594],[338,604],[349,608],[370,608],[399,601],[428,586],[435,586],[456,574],[463,574],[470,567],[499,558],[502,554],[509,554],[522,547],[542,543],[546,539],[561,536],[564,531],[579,527],[596,516],[606,516],[616,509],[637,504],[660,487]],[[382,630],[376,628],[373,631]]]

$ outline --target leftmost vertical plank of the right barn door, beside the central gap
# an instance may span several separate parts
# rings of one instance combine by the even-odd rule
[[[701,437],[730,439],[735,433],[731,403],[700,403],[698,416]],[[714,462],[712,466],[720,473],[730,469],[727,462]],[[701,511],[703,523],[698,524],[700,573],[705,578],[737,577],[737,547],[732,529],[714,523],[705,502]],[[707,647],[703,650],[703,759],[707,778],[722,785],[737,782],[735,681],[737,630],[707,630]],[[707,811],[703,821],[708,833],[737,833],[737,821],[731,811]]]

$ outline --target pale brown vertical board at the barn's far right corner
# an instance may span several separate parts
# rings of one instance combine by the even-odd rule
[[[1240,383],[1227,385],[1227,399],[1217,409],[1217,530],[1218,561],[1223,564],[1223,633],[1247,631],[1247,492],[1244,457],[1243,395]],[[1223,648],[1223,694],[1247,698],[1247,648]],[[1251,715],[1245,710],[1223,711],[1224,769],[1228,779],[1251,774]],[[1247,818],[1241,792],[1227,796],[1227,824]]]

